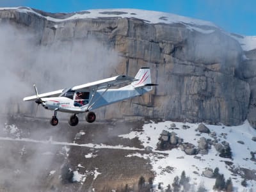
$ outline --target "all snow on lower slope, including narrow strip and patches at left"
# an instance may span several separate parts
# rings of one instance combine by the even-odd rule
[[[175,127],[173,127],[175,124]],[[184,128],[186,125],[186,129]],[[186,176],[190,178],[190,184],[195,186],[195,189],[200,185],[204,185],[207,191],[213,191],[212,187],[215,184],[216,179],[207,178],[202,175],[205,168],[211,168],[214,170],[216,167],[220,169],[220,173],[224,175],[225,179],[232,179],[234,186],[234,191],[246,191],[256,188],[256,162],[251,160],[251,152],[256,152],[255,144],[256,142],[252,140],[256,135],[256,130],[253,129],[250,124],[246,121],[243,125],[227,127],[225,125],[206,125],[211,134],[200,133],[196,131],[198,124],[189,124],[182,122],[150,122],[143,125],[143,131],[132,131],[129,134],[122,134],[118,137],[120,138],[138,138],[142,145],[147,148],[152,147],[152,152],[145,152],[144,148],[136,147],[124,147],[124,145],[105,145],[105,144],[95,144],[95,143],[80,143],[75,142],[69,143],[65,141],[53,141],[50,140],[34,140],[32,138],[20,138],[20,133],[22,132],[15,125],[7,125],[4,127],[3,131],[8,133],[11,137],[0,137],[0,141],[15,141],[15,142],[25,142],[25,143],[42,143],[45,145],[63,145],[63,151],[65,156],[69,156],[68,147],[86,147],[95,149],[113,149],[113,150],[127,150],[129,155],[124,156],[124,158],[130,157],[140,157],[144,159],[149,159],[152,165],[152,171],[155,173],[154,186],[157,189],[159,183],[163,183],[163,189],[172,182],[175,176],[181,175],[182,171],[186,172]],[[90,129],[90,128],[87,128]],[[216,140],[218,143],[225,141],[229,143],[232,150],[232,159],[223,158],[219,156],[219,152],[216,151],[214,145],[209,148],[208,154],[201,155],[196,154],[189,156],[185,154],[180,148],[173,148],[172,150],[158,150],[157,143],[159,142],[159,136],[163,131],[175,132],[179,138],[183,139],[183,143],[192,143],[198,146],[198,140],[204,137],[205,139],[212,140],[212,133],[216,132]],[[215,135],[215,134],[214,134]],[[76,138],[75,138],[76,140]],[[45,152],[45,155],[52,154],[51,152]],[[97,158],[97,154],[93,152],[88,152],[85,159]],[[82,167],[81,164],[77,165],[78,168]],[[254,174],[254,179],[246,180],[248,186],[244,188],[241,186],[241,182],[244,179],[245,173],[243,168],[247,170],[252,170],[251,174]],[[94,179],[97,179],[97,175],[101,172],[97,168],[95,170],[90,170],[93,172]],[[50,174],[54,174],[50,172]],[[242,177],[243,176],[243,177]],[[250,176],[252,177],[252,175]],[[74,181],[81,184],[84,183],[86,175],[78,172],[74,172]]]

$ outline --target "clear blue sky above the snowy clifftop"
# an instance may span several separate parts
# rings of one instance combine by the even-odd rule
[[[231,33],[256,36],[254,0],[0,0],[0,7],[29,6],[45,12],[136,8],[209,20]]]

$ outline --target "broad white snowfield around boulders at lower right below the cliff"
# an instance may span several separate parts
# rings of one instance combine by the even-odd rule
[[[174,132],[177,133],[177,136],[184,139],[184,142],[193,143],[195,146],[198,145],[197,141],[204,137],[206,139],[211,139],[209,134],[202,133],[198,134],[195,129],[198,127],[198,124],[189,124],[189,129],[182,129],[184,123],[180,122],[161,122],[161,123],[150,123],[143,126],[143,132],[131,132],[130,134],[121,135],[123,138],[134,138],[137,137],[143,143],[145,147],[153,147],[154,152],[164,152],[164,154],[141,154],[134,153],[131,156],[143,157],[145,159],[150,159],[154,172],[156,173],[156,178],[154,183],[157,185],[159,182],[163,182],[164,188],[172,182],[175,176],[181,175],[182,171],[186,172],[186,175],[190,177],[190,183],[195,184],[198,187],[199,184],[204,184],[205,188],[208,191],[213,191],[212,187],[214,186],[216,179],[210,179],[202,176],[202,172],[205,168],[220,168],[220,173],[223,173],[225,179],[229,177],[232,178],[232,183],[236,191],[243,191],[243,189],[256,188],[255,180],[248,180],[248,187],[244,188],[241,186],[241,181],[243,180],[241,176],[234,175],[230,172],[230,166],[228,166],[225,161],[233,163],[235,168],[247,168],[250,170],[256,170],[256,163],[250,160],[250,152],[255,151],[255,141],[252,141],[252,137],[256,135],[256,130],[250,127],[250,124],[246,121],[243,125],[236,127],[226,127],[223,125],[207,125],[211,132],[216,132],[219,143],[221,141],[227,141],[232,148],[232,159],[222,158],[219,156],[219,153],[212,146],[207,155],[197,154],[195,156],[188,156],[180,150],[180,148],[173,148],[172,150],[157,150],[158,138],[163,130],[172,132],[171,124],[175,123],[178,129],[175,129]],[[227,135],[227,136],[225,136]],[[237,143],[237,141],[243,141],[244,144]],[[172,172],[168,172],[168,168],[173,168]],[[167,170],[167,171],[166,171]]]

